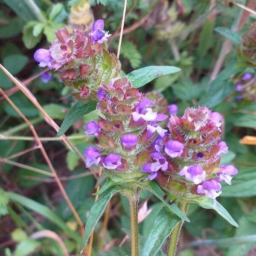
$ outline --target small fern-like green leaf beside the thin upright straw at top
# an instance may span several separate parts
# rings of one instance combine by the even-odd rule
[[[142,56],[138,52],[136,46],[130,41],[124,41],[120,50],[120,54],[128,58],[131,67],[140,67]]]

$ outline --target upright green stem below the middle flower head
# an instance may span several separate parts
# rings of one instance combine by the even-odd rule
[[[131,219],[131,256],[139,256],[139,227],[138,227],[138,208],[139,193],[130,196],[130,219]]]

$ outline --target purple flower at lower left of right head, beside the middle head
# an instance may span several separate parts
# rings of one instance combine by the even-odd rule
[[[151,157],[155,162],[146,164],[142,169],[143,172],[149,173],[145,180],[153,180],[157,177],[157,172],[160,169],[166,171],[168,168],[168,162],[163,155],[159,153],[152,153]]]

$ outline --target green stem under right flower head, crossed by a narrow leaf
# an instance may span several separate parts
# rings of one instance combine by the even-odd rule
[[[188,208],[189,203],[183,202],[180,204],[180,209],[182,210],[182,212],[186,213],[188,211]],[[184,221],[180,221],[180,223],[177,224],[177,226],[172,230],[172,233],[169,237],[169,244],[166,256],[175,256],[183,222]]]

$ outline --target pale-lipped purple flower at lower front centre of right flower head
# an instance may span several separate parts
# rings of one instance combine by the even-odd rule
[[[192,165],[183,167],[180,172],[180,176],[185,176],[186,180],[191,181],[195,184],[199,184],[205,180],[205,171],[202,166]]]

